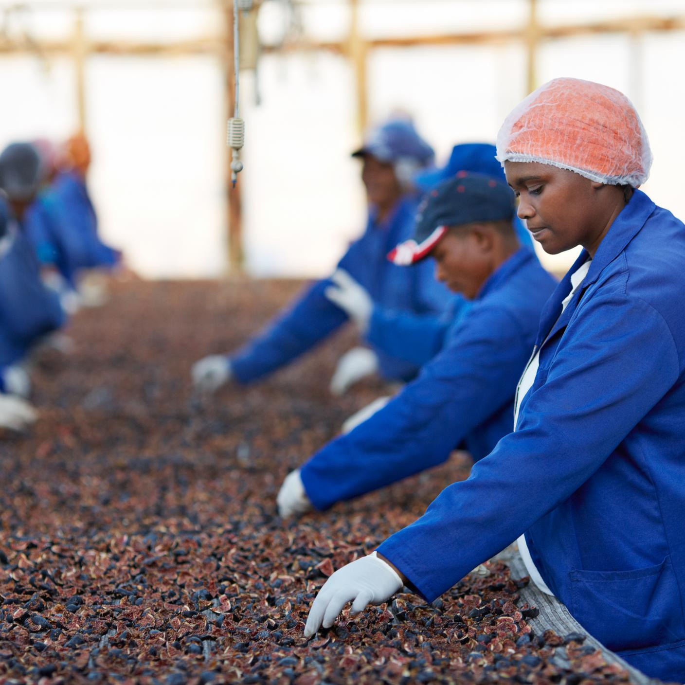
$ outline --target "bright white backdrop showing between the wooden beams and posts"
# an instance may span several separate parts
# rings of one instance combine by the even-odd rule
[[[650,14],[682,16],[685,0],[540,0],[548,24]],[[3,8],[0,2],[0,17]],[[179,0],[91,0],[86,32],[94,39],[185,40],[219,32],[213,5]],[[8,35],[64,38],[71,18],[62,0],[27,3],[10,14]],[[262,8],[260,30],[277,40],[281,0]],[[521,0],[365,0],[366,36],[416,35],[518,27]],[[349,15],[338,0],[310,0],[302,30],[344,38]],[[575,76],[606,83],[630,97],[649,133],[654,165],[645,190],[685,217],[685,36],[623,35],[543,45],[538,82]],[[371,121],[410,112],[445,160],[455,142],[494,140],[504,116],[525,93],[523,49],[435,47],[375,51],[369,63]],[[221,71],[214,58],[97,56],[87,66],[90,184],[102,232],[148,277],[212,277],[225,269],[223,164],[225,121]],[[242,173],[247,266],[253,275],[319,275],[364,226],[357,163],[354,83],[346,60],[330,53],[270,55],[257,81],[242,77],[247,124]],[[0,57],[0,145],[37,136],[64,138],[76,126],[71,62]],[[256,92],[260,105],[256,105]],[[545,257],[563,269],[572,256]]]

